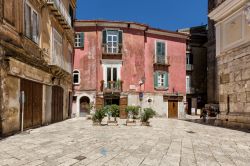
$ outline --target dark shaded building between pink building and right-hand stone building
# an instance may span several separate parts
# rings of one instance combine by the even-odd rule
[[[179,29],[178,32],[189,35],[186,54],[186,111],[188,114],[195,114],[207,102],[207,25]]]

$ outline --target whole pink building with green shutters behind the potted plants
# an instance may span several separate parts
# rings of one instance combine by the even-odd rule
[[[134,22],[76,21],[74,106],[76,116],[120,105],[151,107],[180,118],[186,100],[187,35]]]

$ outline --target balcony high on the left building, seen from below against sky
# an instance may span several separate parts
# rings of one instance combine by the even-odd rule
[[[71,17],[60,0],[47,0],[47,5],[64,29],[71,29]]]

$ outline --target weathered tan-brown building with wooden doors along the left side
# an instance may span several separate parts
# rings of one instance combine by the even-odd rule
[[[0,0],[2,135],[20,131],[22,113],[24,129],[71,114],[75,7],[75,0]]]

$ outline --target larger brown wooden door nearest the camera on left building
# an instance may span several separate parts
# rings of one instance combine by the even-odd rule
[[[20,90],[25,96],[23,128],[42,125],[42,84],[22,79]]]

